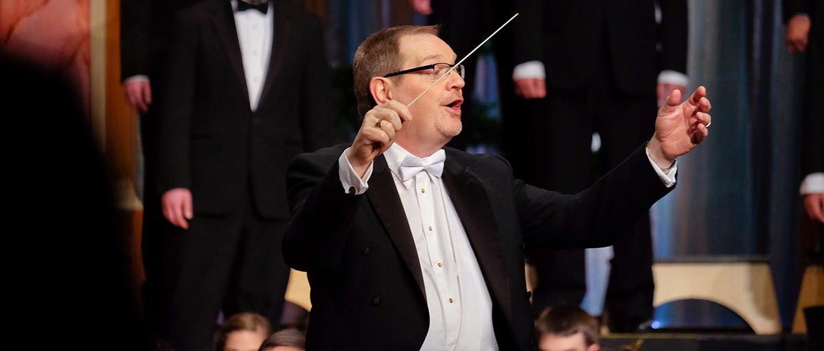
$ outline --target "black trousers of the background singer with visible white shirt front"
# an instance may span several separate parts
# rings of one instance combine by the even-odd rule
[[[279,325],[289,276],[281,253],[286,222],[260,217],[250,199],[225,217],[195,214],[188,230],[167,225],[166,330],[177,351],[211,349],[218,311],[256,312]]]

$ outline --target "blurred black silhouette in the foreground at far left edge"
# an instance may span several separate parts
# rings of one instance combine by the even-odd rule
[[[41,344],[86,335],[89,350],[146,349],[129,236],[76,89],[2,53],[0,77],[4,128],[22,135],[2,147],[16,222],[4,244],[15,255],[3,262],[15,287],[7,292],[12,333]]]

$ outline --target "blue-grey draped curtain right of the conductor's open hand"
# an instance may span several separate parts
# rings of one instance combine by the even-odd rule
[[[657,258],[765,255],[789,327],[798,295],[803,68],[784,49],[780,6],[690,2],[690,89],[707,87],[713,125],[704,144],[679,158],[677,189],[652,213]],[[744,326],[709,303],[667,305],[656,311],[660,326]]]

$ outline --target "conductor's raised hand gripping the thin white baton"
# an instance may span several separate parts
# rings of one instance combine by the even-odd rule
[[[395,100],[377,105],[363,116],[358,135],[346,152],[346,158],[358,176],[363,177],[372,160],[392,146],[395,133],[403,127],[402,121],[409,120],[412,120],[410,110]]]

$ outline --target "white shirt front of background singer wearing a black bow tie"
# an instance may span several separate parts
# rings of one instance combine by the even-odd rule
[[[241,44],[243,73],[246,76],[246,89],[249,92],[249,108],[257,110],[263,83],[269,70],[269,57],[272,54],[272,30],[274,10],[268,2],[266,14],[257,10],[237,11],[237,0],[232,0],[235,12],[237,41]]]

